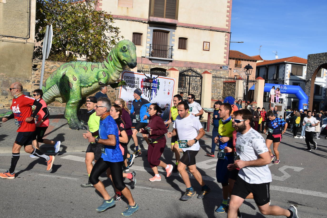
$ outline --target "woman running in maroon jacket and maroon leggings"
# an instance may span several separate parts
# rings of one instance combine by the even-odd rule
[[[161,112],[162,109],[157,104],[151,104],[149,106],[149,123],[146,126],[146,129],[141,128],[139,131],[143,134],[149,134],[147,160],[149,161],[150,167],[155,174],[153,178],[149,179],[150,182],[161,181],[161,176],[159,175],[157,166],[165,168],[167,177],[171,175],[173,170],[173,166],[171,164],[166,164],[159,160],[166,146],[166,137],[164,134],[168,132],[166,125],[164,125],[163,119],[157,114]]]

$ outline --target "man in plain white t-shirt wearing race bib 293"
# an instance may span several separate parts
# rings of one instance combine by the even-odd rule
[[[204,136],[204,129],[200,121],[188,113],[188,104],[185,102],[178,103],[177,110],[179,116],[176,117],[173,131],[168,132],[167,137],[171,138],[172,136],[178,134],[179,150],[180,152],[183,152],[183,156],[180,159],[177,169],[186,185],[186,192],[180,198],[180,200],[187,201],[196,194],[191,186],[190,178],[186,171],[186,166],[202,187],[201,193],[198,195],[198,198],[202,199],[211,191],[210,188],[204,183],[202,176],[195,165],[195,156],[200,150],[198,140]],[[182,142],[184,140],[185,143]],[[181,148],[182,146],[185,147]]]

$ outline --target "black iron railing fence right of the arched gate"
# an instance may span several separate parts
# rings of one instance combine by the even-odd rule
[[[254,99],[254,85],[256,80],[249,80],[248,100]],[[211,99],[224,99],[232,96],[236,100],[245,100],[246,78],[235,78],[231,76],[212,76]]]

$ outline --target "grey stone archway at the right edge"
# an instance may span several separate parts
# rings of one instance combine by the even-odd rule
[[[317,72],[320,68],[327,69],[327,52],[308,55],[307,72],[304,92],[309,97],[309,110],[312,110],[313,93]]]

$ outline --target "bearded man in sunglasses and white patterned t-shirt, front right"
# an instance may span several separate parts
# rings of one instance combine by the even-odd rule
[[[269,184],[271,174],[267,164],[270,163],[268,148],[264,138],[251,128],[252,113],[249,110],[234,112],[233,127],[236,135],[236,153],[239,159],[227,168],[240,171],[234,184],[228,208],[228,217],[237,217],[237,210],[244,199],[253,193],[253,198],[261,213],[298,218],[297,209],[291,205],[288,210],[270,206]]]

